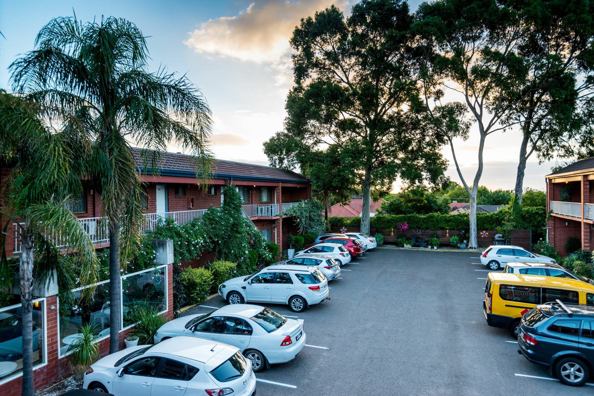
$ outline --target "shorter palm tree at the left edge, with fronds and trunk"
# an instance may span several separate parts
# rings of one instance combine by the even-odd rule
[[[77,217],[65,207],[68,192],[80,189],[80,174],[77,175],[81,169],[77,165],[80,155],[64,139],[64,134],[53,131],[44,122],[44,116],[52,113],[56,114],[48,107],[0,90],[0,156],[14,163],[3,186],[4,205],[0,214],[7,217],[7,222],[0,236],[0,270],[4,277],[10,273],[7,235],[12,235],[21,248],[18,272],[23,311],[23,396],[35,394],[31,302],[34,276],[46,284],[57,271],[63,280],[59,283],[71,286],[69,271],[64,271],[62,266],[61,248],[78,258],[81,284],[93,283],[97,275],[93,242]],[[71,124],[71,135],[75,129]]]

